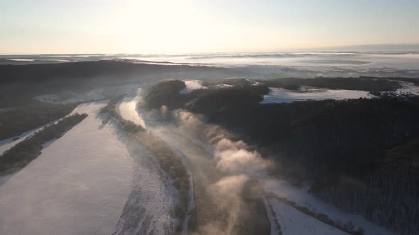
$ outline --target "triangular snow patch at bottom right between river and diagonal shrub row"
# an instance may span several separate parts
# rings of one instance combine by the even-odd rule
[[[277,200],[272,200],[283,235],[348,235],[346,232],[320,222],[313,217],[295,210],[295,208]]]

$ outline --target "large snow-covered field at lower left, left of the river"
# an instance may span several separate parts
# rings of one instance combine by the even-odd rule
[[[106,102],[80,105],[89,116],[50,143],[0,187],[0,234],[111,234],[131,191],[132,159]]]

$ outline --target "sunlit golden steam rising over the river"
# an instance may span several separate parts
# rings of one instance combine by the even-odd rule
[[[235,234],[239,216],[252,210],[244,203],[246,183],[262,180],[271,163],[243,141],[233,140],[232,134],[221,127],[206,124],[201,115],[185,110],[176,110],[172,115],[182,132],[209,144],[207,149],[212,150],[217,170],[222,173],[222,178],[209,186],[208,193],[220,208],[229,212],[227,229],[221,229],[219,224],[206,224],[200,227],[200,234]]]

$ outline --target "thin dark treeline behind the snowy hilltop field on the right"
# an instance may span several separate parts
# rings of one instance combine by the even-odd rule
[[[317,88],[347,89],[359,91],[396,91],[401,88],[398,81],[373,78],[317,78],[317,79],[270,79],[261,81],[269,87],[282,87],[296,90],[300,86]]]

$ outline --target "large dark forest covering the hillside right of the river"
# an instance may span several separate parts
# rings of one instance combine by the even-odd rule
[[[418,96],[261,104],[267,86],[234,83],[180,94],[183,81],[161,81],[144,100],[203,114],[278,162],[274,175],[308,181],[313,195],[392,231],[419,233]]]

